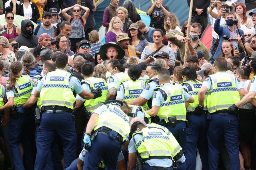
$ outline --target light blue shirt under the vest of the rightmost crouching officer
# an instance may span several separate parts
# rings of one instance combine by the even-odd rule
[[[145,130],[142,129],[142,131]],[[140,139],[142,139],[142,134],[136,134],[134,135],[134,139],[136,142],[138,142]],[[135,148],[135,142],[133,139],[130,140],[129,143],[129,153],[136,153],[137,150]],[[157,166],[157,167],[163,167],[163,168],[170,168],[172,166],[172,160],[171,159],[150,159],[145,161],[146,164],[149,164],[150,166]]]

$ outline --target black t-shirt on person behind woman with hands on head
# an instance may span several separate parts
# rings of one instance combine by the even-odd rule
[[[85,22],[85,28],[93,28],[95,26],[95,19],[94,19],[94,12],[91,11],[95,8],[93,4],[93,0],[82,0],[82,6],[85,6],[90,9],[90,14]],[[83,16],[85,13],[85,10],[82,9],[81,16]]]

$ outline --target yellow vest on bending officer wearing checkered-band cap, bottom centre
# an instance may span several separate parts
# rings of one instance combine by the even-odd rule
[[[117,106],[105,104],[106,108],[95,123],[94,131],[106,126],[123,136],[123,140],[130,133],[129,117]]]

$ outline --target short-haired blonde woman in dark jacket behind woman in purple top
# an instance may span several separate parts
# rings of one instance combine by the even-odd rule
[[[116,9],[116,13],[117,16],[120,18],[120,20],[122,21],[123,25],[123,30],[125,33],[128,33],[128,29],[130,27],[130,24],[132,24],[133,22],[130,20],[130,18],[128,18],[128,11],[125,7],[120,6]]]

